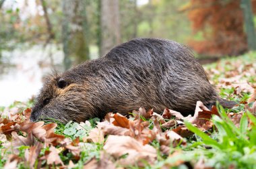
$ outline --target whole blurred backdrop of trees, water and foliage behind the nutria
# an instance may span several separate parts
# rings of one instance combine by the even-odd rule
[[[0,0],[0,106],[137,37],[185,44],[202,64],[256,50],[254,13],[256,0]]]

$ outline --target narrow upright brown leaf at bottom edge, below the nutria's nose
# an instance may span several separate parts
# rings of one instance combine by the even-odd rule
[[[34,168],[34,163],[36,162],[40,151],[42,149],[42,144],[39,142],[35,146],[31,146],[30,149],[25,152],[25,160],[28,162],[30,168]]]

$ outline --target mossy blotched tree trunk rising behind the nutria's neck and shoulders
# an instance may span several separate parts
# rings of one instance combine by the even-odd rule
[[[86,0],[63,0],[63,52],[68,69],[72,60],[79,64],[90,59],[87,42]]]

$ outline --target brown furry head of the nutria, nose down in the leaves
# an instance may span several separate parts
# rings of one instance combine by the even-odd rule
[[[84,121],[93,113],[92,101],[87,93],[84,82],[75,82],[68,76],[46,78],[32,108],[30,120]]]

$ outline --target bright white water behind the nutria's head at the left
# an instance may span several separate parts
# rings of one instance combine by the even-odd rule
[[[56,46],[32,46],[27,50],[5,51],[2,56],[0,107],[7,107],[13,101],[28,101],[42,87],[43,76],[62,69],[63,52]]]

